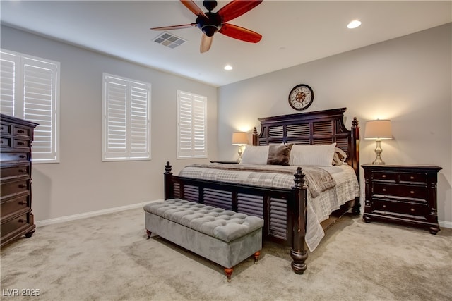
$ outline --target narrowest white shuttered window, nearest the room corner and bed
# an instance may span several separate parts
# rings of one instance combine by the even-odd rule
[[[207,158],[207,98],[177,91],[177,158]]]

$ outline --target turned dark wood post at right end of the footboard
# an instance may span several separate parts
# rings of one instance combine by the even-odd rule
[[[294,182],[292,186],[294,195],[294,204],[292,209],[292,248],[290,249],[290,257],[292,257],[292,270],[296,274],[303,274],[307,269],[305,263],[308,258],[307,247],[304,242],[306,235],[306,202],[307,202],[307,185],[304,180],[304,173],[302,168],[297,168]]]

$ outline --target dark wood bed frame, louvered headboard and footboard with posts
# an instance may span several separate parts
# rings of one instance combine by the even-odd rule
[[[253,132],[253,145],[294,143],[336,147],[347,153],[347,164],[359,180],[359,126],[344,124],[346,108],[259,118],[261,133]],[[292,189],[264,188],[252,185],[199,180],[174,176],[172,166],[165,166],[165,199],[181,198],[223,209],[231,209],[264,219],[264,239],[291,247],[292,269],[303,274],[307,269],[307,247],[304,242],[307,221],[307,185],[302,168],[297,168]],[[347,203],[359,214],[359,197]]]

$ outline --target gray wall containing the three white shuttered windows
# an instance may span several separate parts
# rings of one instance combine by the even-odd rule
[[[177,90],[208,98],[208,155],[218,157],[216,87],[11,27],[1,27],[1,48],[61,63],[61,161],[32,168],[36,221],[161,199],[166,161],[176,172],[207,161],[176,159]],[[152,85],[152,160],[101,161],[103,72]]]

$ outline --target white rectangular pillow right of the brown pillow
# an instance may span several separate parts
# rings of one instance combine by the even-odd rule
[[[335,146],[335,143],[331,145],[293,145],[289,164],[295,166],[332,166]]]

